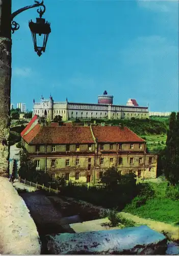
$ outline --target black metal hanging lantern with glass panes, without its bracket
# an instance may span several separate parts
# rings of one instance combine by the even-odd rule
[[[40,18],[36,18],[36,23],[34,23],[31,19],[29,22],[29,28],[32,33],[32,39],[34,43],[34,50],[37,52],[39,57],[42,55],[42,51],[45,52],[46,48],[46,43],[48,40],[49,33],[51,32],[50,29],[50,23],[45,22],[45,19],[42,18],[43,13],[45,12],[45,9],[42,11],[40,10],[37,11],[40,14]],[[39,35],[39,38],[38,38]],[[42,41],[41,36],[43,35]],[[39,39],[39,40],[38,40]]]

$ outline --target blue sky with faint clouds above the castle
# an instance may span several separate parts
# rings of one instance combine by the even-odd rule
[[[12,0],[12,11],[32,0]],[[41,94],[55,101],[97,103],[104,90],[114,104],[135,98],[150,111],[178,110],[177,1],[44,0],[51,23],[46,52],[33,48],[28,21],[15,17],[11,102],[29,110]]]

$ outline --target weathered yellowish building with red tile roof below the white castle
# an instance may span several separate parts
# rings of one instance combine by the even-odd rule
[[[54,180],[95,183],[109,167],[143,179],[157,176],[157,154],[146,153],[146,142],[127,127],[44,126],[34,116],[21,136],[36,168]]]

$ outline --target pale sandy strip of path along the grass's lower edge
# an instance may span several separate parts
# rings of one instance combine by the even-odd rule
[[[179,227],[178,226],[173,226],[171,224],[167,224],[164,222],[143,219],[138,216],[129,214],[127,212],[120,212],[120,213],[123,217],[125,217],[127,219],[131,219],[138,224],[147,225],[151,229],[154,229],[160,233],[162,233],[164,230],[164,232],[167,234],[167,236],[170,240],[179,242]]]

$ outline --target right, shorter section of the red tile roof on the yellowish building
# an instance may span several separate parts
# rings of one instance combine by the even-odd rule
[[[127,127],[93,126],[92,131],[98,142],[144,142]]]

